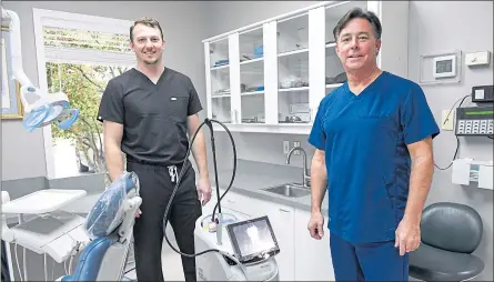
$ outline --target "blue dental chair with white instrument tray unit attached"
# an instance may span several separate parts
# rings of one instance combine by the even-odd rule
[[[46,189],[10,201],[2,191],[2,243],[16,245],[16,264],[21,280],[28,278],[26,250],[44,255],[44,280],[47,256],[57,263],[70,260],[68,275],[57,281],[121,281],[132,242],[135,213],[141,205],[139,179],[133,172],[124,172],[100,195],[85,218],[60,210],[73,199],[85,195],[85,191]],[[4,213],[34,214],[9,228]],[[17,256],[17,246],[24,248],[23,276]],[[10,248],[3,255],[7,260],[9,280],[13,281],[13,263]],[[2,259],[3,259],[2,256]],[[72,273],[72,259],[78,259]],[[3,265],[2,265],[3,266]],[[3,271],[2,271],[3,272]],[[31,273],[38,276],[40,273]]]

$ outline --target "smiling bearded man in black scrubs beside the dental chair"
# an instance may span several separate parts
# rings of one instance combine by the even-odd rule
[[[167,204],[182,168],[180,188],[169,214],[179,249],[194,253],[194,224],[201,202],[211,198],[204,135],[192,147],[199,181],[190,161],[182,164],[189,137],[200,125],[202,110],[189,77],[164,67],[163,32],[158,21],[144,18],[130,28],[130,46],[137,68],[111,79],[101,99],[98,120],[103,122],[104,153],[112,181],[124,170],[138,174],[142,205],[133,230],[139,281],[163,281],[161,246]],[[195,260],[182,256],[186,281],[195,281]],[[167,270],[167,265],[163,265]]]

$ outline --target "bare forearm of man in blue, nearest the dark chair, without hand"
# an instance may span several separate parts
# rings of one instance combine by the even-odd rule
[[[407,148],[412,158],[412,171],[404,219],[419,224],[434,173],[432,138],[412,143]]]

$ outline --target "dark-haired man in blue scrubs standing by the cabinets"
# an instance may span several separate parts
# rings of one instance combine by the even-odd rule
[[[409,280],[434,170],[440,129],[416,83],[379,69],[381,32],[379,18],[360,9],[334,28],[347,81],[321,101],[309,137],[316,150],[308,228],[323,236],[327,190],[337,281]]]

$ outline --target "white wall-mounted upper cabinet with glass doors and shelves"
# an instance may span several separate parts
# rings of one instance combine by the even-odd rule
[[[407,1],[321,2],[203,41],[208,117],[231,131],[310,133],[321,100],[346,81],[333,29],[353,7],[381,19],[380,68],[406,78]]]

